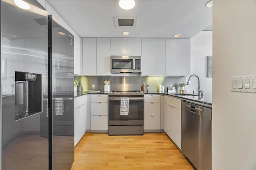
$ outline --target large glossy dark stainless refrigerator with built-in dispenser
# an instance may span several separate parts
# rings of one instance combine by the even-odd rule
[[[48,28],[48,12],[36,0],[20,2],[1,1],[2,169],[70,169],[73,36],[57,21]]]

